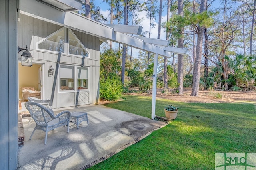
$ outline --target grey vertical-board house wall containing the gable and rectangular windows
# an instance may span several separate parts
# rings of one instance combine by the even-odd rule
[[[42,99],[52,99],[52,108],[98,103],[101,43],[96,36],[19,16],[18,46],[28,45],[33,65],[41,65]],[[50,67],[53,75],[48,75]],[[30,74],[20,77],[33,79]]]

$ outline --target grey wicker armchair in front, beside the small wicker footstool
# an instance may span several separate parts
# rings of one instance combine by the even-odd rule
[[[70,111],[62,111],[58,115],[54,116],[52,109],[48,109],[39,103],[30,101],[25,103],[25,107],[36,122],[36,127],[34,128],[29,140],[31,140],[36,129],[40,129],[45,132],[44,144],[46,144],[47,133],[50,130],[67,125],[69,133]]]

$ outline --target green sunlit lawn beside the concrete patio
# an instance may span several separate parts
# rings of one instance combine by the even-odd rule
[[[106,106],[151,117],[150,97],[124,97],[126,100]],[[158,99],[156,115],[164,116],[164,107],[169,104],[180,107],[172,123],[91,169],[212,170],[215,153],[256,152],[253,104],[181,103]]]

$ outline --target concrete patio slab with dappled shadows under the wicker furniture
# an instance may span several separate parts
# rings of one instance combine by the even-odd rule
[[[44,145],[45,132],[42,130],[36,130],[32,139],[28,140],[36,124],[32,121],[28,125],[30,117],[22,119],[25,142],[24,146],[18,150],[20,170],[74,170],[88,167],[97,160],[130,146],[135,143],[134,141],[166,125],[161,121],[103,105],[67,110],[87,112],[89,125],[84,121],[77,129],[76,125],[70,123],[69,133],[66,127],[58,127],[48,132],[46,145]],[[54,111],[54,113],[60,111]]]

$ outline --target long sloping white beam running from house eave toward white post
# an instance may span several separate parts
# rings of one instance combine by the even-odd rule
[[[98,38],[121,43],[150,53],[157,53],[163,57],[172,57],[171,53],[165,51],[163,47],[144,43],[143,40],[128,34],[114,32],[113,28],[81,16],[80,14],[74,12],[61,12],[60,10],[56,10],[55,8],[35,0],[20,1],[20,13],[84,32]]]

